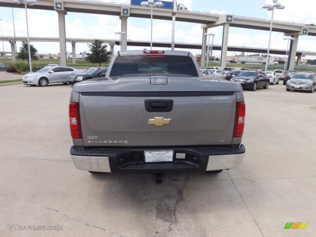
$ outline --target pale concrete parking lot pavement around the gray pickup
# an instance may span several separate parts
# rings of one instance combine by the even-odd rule
[[[0,87],[1,236],[315,236],[316,92],[287,92],[282,82],[244,91],[241,166],[168,174],[158,186],[149,175],[74,167],[70,91]]]

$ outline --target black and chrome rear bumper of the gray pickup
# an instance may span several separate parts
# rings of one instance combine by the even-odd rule
[[[144,162],[144,151],[173,150],[172,162]],[[165,147],[132,149],[70,149],[77,169],[106,173],[204,173],[238,167],[245,155],[244,145],[230,147]],[[179,155],[177,158],[176,154]],[[184,155],[185,154],[185,157]],[[181,157],[181,158],[179,158]]]

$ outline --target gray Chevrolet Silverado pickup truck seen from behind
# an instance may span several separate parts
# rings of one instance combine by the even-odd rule
[[[204,81],[183,51],[125,51],[106,77],[72,88],[70,154],[90,173],[219,173],[238,167],[245,103],[239,83]]]

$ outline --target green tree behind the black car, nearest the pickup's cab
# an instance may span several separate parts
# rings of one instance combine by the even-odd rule
[[[98,63],[99,67],[101,63],[107,63],[111,58],[111,51],[107,51],[107,45],[103,44],[101,40],[94,40],[93,43],[89,44],[91,53],[87,53],[86,59],[95,64]]]

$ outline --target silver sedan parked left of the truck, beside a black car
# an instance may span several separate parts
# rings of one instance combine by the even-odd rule
[[[68,77],[72,73],[79,73],[80,70],[71,67],[45,67],[37,72],[30,72],[22,77],[22,83],[24,85],[39,85],[47,86],[52,83],[64,83],[68,84]]]

